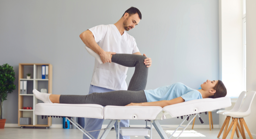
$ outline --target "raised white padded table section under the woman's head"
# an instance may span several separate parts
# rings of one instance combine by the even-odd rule
[[[229,97],[221,97],[215,99],[204,98],[165,106],[163,110],[168,112],[172,117],[178,117],[195,113],[209,112],[230,106],[231,100]],[[167,119],[165,115],[163,115],[163,119]]]

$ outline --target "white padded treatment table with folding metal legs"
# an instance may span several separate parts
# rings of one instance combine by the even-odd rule
[[[158,134],[162,139],[170,139],[173,134],[178,130],[179,127],[184,128],[182,132],[189,126],[192,120],[198,116],[201,123],[203,120],[199,114],[203,112],[209,112],[221,108],[227,108],[231,106],[231,100],[229,97],[222,98],[204,98],[182,102],[174,105],[165,106],[164,108],[158,106],[106,106],[103,107],[97,104],[50,104],[50,103],[38,103],[35,107],[35,115],[41,115],[42,118],[47,116],[59,116],[65,117],[71,124],[74,124],[79,130],[83,132],[88,138],[95,139],[76,123],[71,117],[87,117],[87,118],[98,118],[98,119],[111,119],[104,130],[100,139],[105,139],[114,123],[117,123],[116,139],[119,139],[119,132],[123,136],[144,136],[146,139],[152,139],[152,128],[153,126],[157,130]],[[183,119],[183,116],[186,116]],[[193,116],[190,118],[190,116]],[[159,124],[159,120],[168,118],[181,117],[183,121],[176,128],[174,133],[170,137],[167,137],[163,128]],[[145,120],[145,127],[119,127],[120,120]],[[189,123],[183,127],[181,126],[185,120],[190,120]],[[150,123],[150,126],[148,124]],[[67,126],[67,124],[66,124]],[[79,128],[80,127],[80,128]],[[94,130],[98,131],[98,130]],[[150,134],[148,135],[148,131]],[[177,139],[180,137],[182,132],[179,134]]]

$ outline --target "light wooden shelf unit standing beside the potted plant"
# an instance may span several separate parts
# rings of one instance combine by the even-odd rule
[[[49,73],[48,73],[48,79],[42,79],[42,74],[38,73],[38,68],[42,65],[48,65],[49,66]],[[33,66],[33,79],[26,79],[24,78],[24,66]],[[40,74],[40,75],[39,75]],[[41,76],[41,78],[40,78]],[[48,89],[47,93],[52,94],[52,88],[53,88],[53,66],[51,64],[27,64],[27,63],[20,63],[19,64],[19,91],[18,91],[18,125],[19,126],[41,126],[41,127],[49,127],[52,125],[52,117],[48,117],[48,124],[38,124],[37,123],[37,115],[35,115],[35,105],[38,103],[37,98],[35,98],[34,94],[20,94],[20,81],[21,80],[28,80],[33,81],[33,89],[38,90],[38,81],[48,81]],[[40,91],[40,90],[38,90]],[[33,109],[32,110],[24,110],[23,108],[23,98],[24,96],[33,96]],[[33,121],[31,121],[32,124],[30,125],[21,125],[20,124],[20,117],[23,117],[23,112],[32,113],[33,112]]]

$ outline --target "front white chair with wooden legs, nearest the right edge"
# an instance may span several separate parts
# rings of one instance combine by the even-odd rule
[[[232,122],[231,122],[230,126],[228,127],[228,130],[225,133],[225,136],[223,135],[223,139],[225,139],[227,137],[232,126],[233,126],[233,130],[232,130],[230,139],[232,139],[234,137],[234,133],[235,133],[235,130],[237,130],[237,127],[238,127],[243,139],[246,139],[245,133],[244,133],[244,127],[245,127],[247,133],[249,134],[250,139],[253,139],[252,134],[244,121],[244,117],[249,116],[251,114],[251,104],[252,104],[252,100],[253,100],[255,94],[256,94],[256,91],[247,92],[244,103],[242,104],[241,108],[237,112],[224,112],[223,113],[223,115],[232,117]],[[239,126],[238,120],[240,122],[241,128]],[[238,134],[238,132],[237,132],[237,134]]]

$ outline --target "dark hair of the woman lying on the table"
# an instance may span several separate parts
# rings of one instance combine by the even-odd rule
[[[213,89],[216,90],[216,92],[214,95],[209,96],[209,98],[220,98],[227,95],[227,89],[221,80],[218,80],[218,83],[213,87]]]

